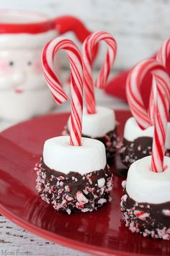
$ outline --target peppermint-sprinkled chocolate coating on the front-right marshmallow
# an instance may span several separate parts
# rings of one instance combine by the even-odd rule
[[[125,225],[143,236],[170,239],[170,202],[135,202],[128,193],[122,196],[121,210]]]

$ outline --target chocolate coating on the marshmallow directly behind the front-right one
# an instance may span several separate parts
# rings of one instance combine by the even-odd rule
[[[152,142],[152,137],[138,137],[134,141],[124,138],[119,150],[122,163],[129,168],[138,159],[151,155]],[[166,155],[170,156],[170,150],[166,150]]]

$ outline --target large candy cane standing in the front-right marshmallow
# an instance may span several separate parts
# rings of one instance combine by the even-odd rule
[[[140,93],[140,85],[148,72],[151,72],[156,80],[155,87],[153,88],[154,135],[151,171],[161,172],[164,171],[166,125],[168,121],[170,101],[170,78],[164,66],[155,59],[148,59],[147,61],[141,61],[137,64],[128,75],[127,95],[133,116],[140,127],[145,129],[149,126],[149,117],[147,116],[147,111],[144,108],[142,99],[141,102],[136,101],[135,93]]]

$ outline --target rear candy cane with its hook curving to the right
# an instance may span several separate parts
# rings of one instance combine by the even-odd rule
[[[94,97],[94,82],[92,77],[92,61],[94,56],[94,50],[99,41],[107,43],[107,54],[100,69],[99,75],[95,82],[95,87],[103,89],[107,85],[107,79],[109,73],[114,64],[115,57],[117,54],[117,43],[112,35],[104,31],[99,31],[89,35],[84,40],[82,48],[82,58],[84,64],[84,85],[85,85],[85,96],[86,96],[86,108],[87,113],[96,113],[96,102]]]

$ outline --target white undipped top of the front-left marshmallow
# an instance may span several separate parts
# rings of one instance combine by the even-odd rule
[[[45,141],[44,163],[51,169],[68,174],[70,171],[83,175],[99,171],[106,166],[104,144],[99,140],[82,137],[81,146],[71,146],[68,136],[53,137]]]

